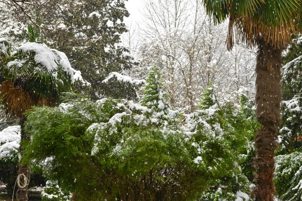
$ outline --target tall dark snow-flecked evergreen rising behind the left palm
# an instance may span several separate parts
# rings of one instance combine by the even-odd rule
[[[123,18],[129,16],[124,0],[65,0],[62,5],[59,34],[46,33],[46,41],[65,52],[72,67],[91,83],[93,99],[135,99],[133,85],[102,82],[111,72],[123,73],[138,64],[120,43],[120,35],[127,32]]]

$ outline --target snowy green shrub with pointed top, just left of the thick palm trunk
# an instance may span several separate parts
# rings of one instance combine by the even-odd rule
[[[241,164],[247,160],[244,153],[251,146],[257,121],[246,118],[246,111],[231,103],[219,106],[211,86],[204,91],[199,108],[187,116],[183,130],[197,152],[194,162],[215,177],[207,182],[200,200],[233,200],[249,193],[251,183]]]

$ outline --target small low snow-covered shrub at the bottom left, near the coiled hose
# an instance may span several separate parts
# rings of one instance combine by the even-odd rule
[[[46,181],[46,186],[41,192],[42,201],[69,201],[70,193],[63,193],[57,181]]]

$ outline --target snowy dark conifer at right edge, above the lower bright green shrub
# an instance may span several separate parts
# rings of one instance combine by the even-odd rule
[[[281,143],[279,154],[300,150],[302,146],[302,137],[300,137],[302,136],[300,118],[302,116],[302,55],[298,51],[301,45],[299,41],[302,41],[302,38],[294,41],[286,58],[297,57],[283,66],[284,101],[282,102],[282,125],[279,127]]]

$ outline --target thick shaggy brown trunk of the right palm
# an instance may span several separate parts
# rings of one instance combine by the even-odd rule
[[[272,180],[277,130],[281,122],[281,50],[260,42],[256,64],[256,118],[262,129],[255,135],[256,187],[252,194],[256,201],[273,201],[276,192]]]

